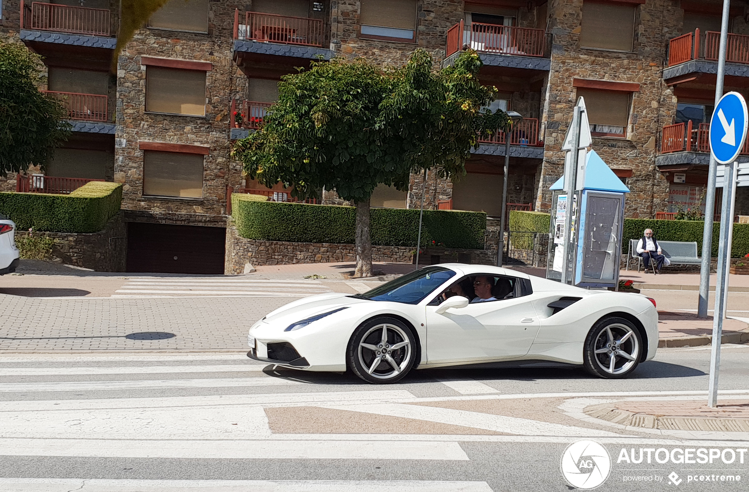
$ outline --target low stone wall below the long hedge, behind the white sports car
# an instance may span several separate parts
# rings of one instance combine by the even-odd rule
[[[426,248],[420,253],[419,263],[460,261],[473,264],[494,264],[497,257],[496,231],[487,231],[485,241],[486,249]],[[414,252],[415,249],[412,246],[372,245],[372,261],[411,263]],[[227,221],[224,262],[224,273],[227,275],[244,273],[245,265],[248,263],[257,266],[337,261],[356,261],[354,245],[249,240],[237,234],[237,228],[232,219]]]

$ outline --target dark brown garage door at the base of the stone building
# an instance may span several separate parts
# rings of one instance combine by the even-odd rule
[[[127,224],[127,271],[224,273],[226,229],[199,225]]]

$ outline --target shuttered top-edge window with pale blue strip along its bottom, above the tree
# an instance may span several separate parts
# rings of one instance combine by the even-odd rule
[[[361,0],[360,36],[413,43],[416,40],[416,0]]]

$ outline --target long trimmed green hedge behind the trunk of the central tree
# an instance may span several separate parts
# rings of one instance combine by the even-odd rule
[[[355,241],[354,207],[264,201],[252,196],[231,195],[231,215],[241,237],[300,243]],[[370,230],[372,244],[416,247],[419,210],[373,208]],[[434,240],[447,248],[482,249],[485,230],[485,213],[424,210],[422,247]]]

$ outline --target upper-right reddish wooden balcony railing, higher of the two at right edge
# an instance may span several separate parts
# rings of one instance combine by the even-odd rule
[[[678,65],[690,60],[718,61],[718,49],[721,33],[707,31],[700,34],[700,29],[682,34],[669,41],[668,66]],[[726,46],[728,63],[749,64],[749,36],[729,33]]]

